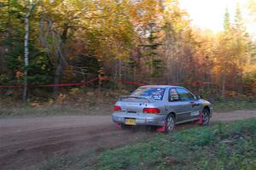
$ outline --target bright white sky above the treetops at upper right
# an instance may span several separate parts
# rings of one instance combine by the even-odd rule
[[[180,7],[189,13],[192,25],[214,32],[222,31],[225,8],[228,8],[231,20],[234,20],[236,4],[239,3],[244,11],[243,18],[247,22],[247,30],[254,33],[255,28],[249,25],[246,14],[248,0],[180,0]]]

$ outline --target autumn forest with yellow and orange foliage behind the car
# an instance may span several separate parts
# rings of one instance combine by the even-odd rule
[[[178,0],[0,0],[0,95],[142,83],[255,99],[256,41],[245,22],[256,24],[256,1],[223,14],[216,33],[192,26]]]

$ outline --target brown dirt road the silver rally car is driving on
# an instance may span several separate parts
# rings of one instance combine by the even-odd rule
[[[256,111],[215,113],[212,122],[256,117]],[[179,128],[196,126],[195,123]],[[111,116],[47,116],[0,119],[0,169],[29,169],[55,153],[74,150],[101,152],[148,139],[148,130],[122,131]]]

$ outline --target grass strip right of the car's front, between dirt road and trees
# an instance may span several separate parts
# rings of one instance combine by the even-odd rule
[[[218,102],[212,102],[214,111],[236,111],[236,110],[253,110],[256,109],[256,100],[224,100]]]

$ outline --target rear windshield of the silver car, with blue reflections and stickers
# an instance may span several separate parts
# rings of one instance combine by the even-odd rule
[[[162,100],[165,94],[165,88],[137,88],[131,96],[150,97],[154,100]]]

